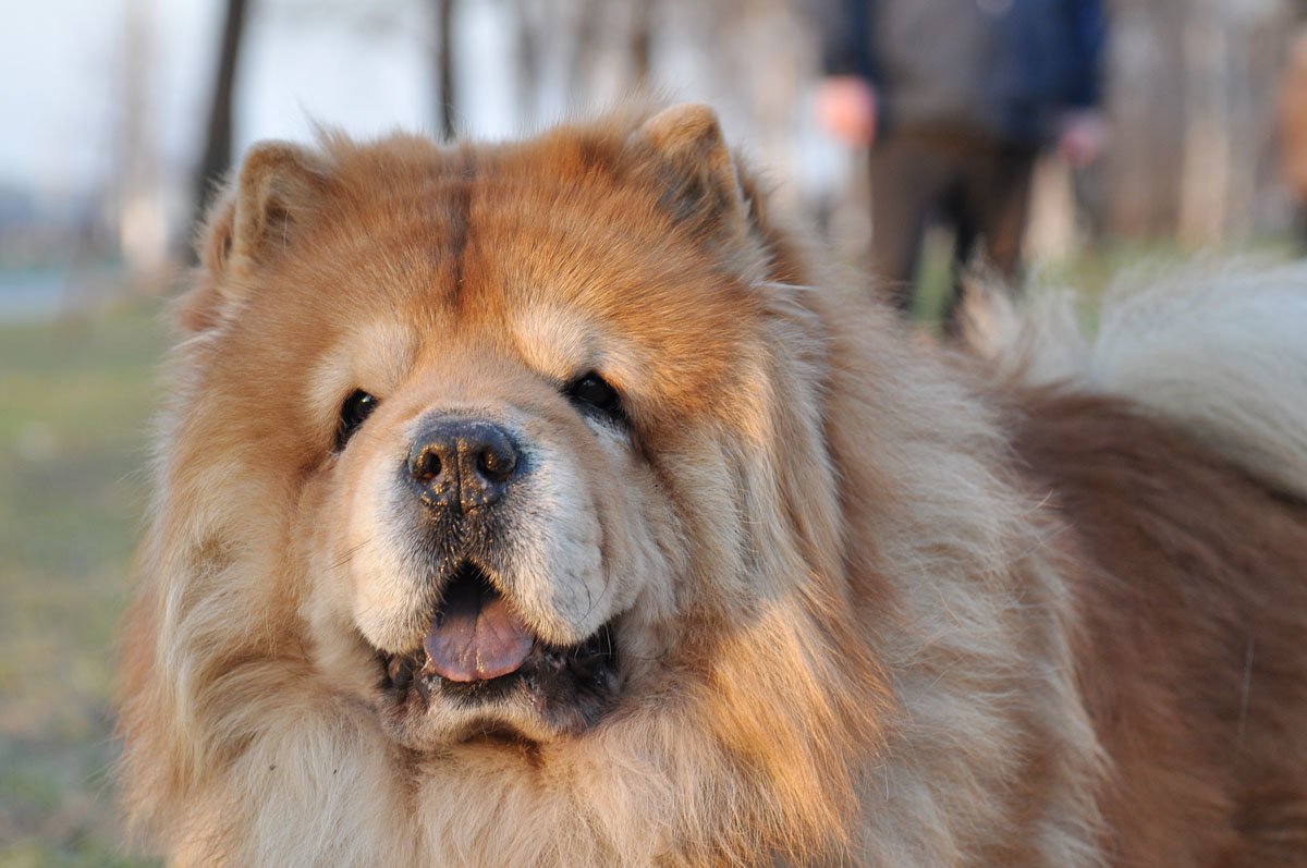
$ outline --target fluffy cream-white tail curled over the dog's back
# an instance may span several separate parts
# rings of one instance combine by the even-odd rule
[[[978,284],[968,340],[1006,375],[1120,395],[1307,497],[1307,263],[1201,260],[1119,280],[1087,341],[1072,295]]]

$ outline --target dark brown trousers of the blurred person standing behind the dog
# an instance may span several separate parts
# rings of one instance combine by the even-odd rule
[[[872,173],[872,275],[911,314],[921,237],[929,221],[954,230],[954,286],[944,312],[951,331],[962,298],[959,268],[978,252],[1016,277],[1038,149],[985,136],[894,131],[876,142]]]

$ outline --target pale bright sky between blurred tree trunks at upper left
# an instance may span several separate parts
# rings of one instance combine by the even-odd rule
[[[256,0],[237,81],[235,137],[311,136],[311,119],[356,136],[429,129],[433,27],[417,0]],[[188,167],[207,123],[221,0],[41,0],[12,3],[0,33],[0,184],[67,192],[114,170],[128,12],[149,22],[149,128],[161,162]],[[465,128],[514,132],[494,4],[472,4],[460,48],[481,60]],[[485,63],[490,60],[491,63]]]

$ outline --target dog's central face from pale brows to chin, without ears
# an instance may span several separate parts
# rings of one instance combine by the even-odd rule
[[[339,422],[305,528],[312,621],[412,746],[597,723],[626,660],[664,651],[687,557],[646,451],[669,397],[605,323],[614,276],[529,275],[511,254],[485,251],[511,268],[490,277],[463,251],[456,297],[422,280],[319,371]]]

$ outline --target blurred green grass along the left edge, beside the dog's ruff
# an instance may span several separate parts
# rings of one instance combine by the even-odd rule
[[[114,637],[148,485],[157,303],[0,326],[0,864],[124,856]]]

